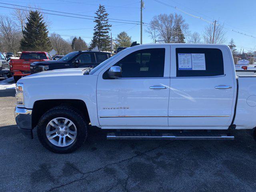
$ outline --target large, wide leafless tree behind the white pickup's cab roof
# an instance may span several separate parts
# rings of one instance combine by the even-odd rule
[[[177,35],[175,28],[180,26],[180,32],[184,33],[188,30],[188,24],[185,23],[184,18],[180,14],[159,14],[154,16],[150,21],[150,26],[147,29],[149,34],[154,34],[160,40],[164,40],[165,43],[171,43],[174,40],[174,36]],[[179,33],[180,33],[179,32]]]

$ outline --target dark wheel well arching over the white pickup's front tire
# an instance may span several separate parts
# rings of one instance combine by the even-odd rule
[[[72,106],[76,108],[83,114],[86,122],[90,123],[90,117],[84,101],[77,99],[49,99],[39,100],[34,103],[32,110],[32,128],[38,124],[39,119],[46,111],[60,105]]]

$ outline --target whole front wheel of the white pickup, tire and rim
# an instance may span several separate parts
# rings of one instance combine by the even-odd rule
[[[78,110],[58,106],[40,118],[37,135],[46,149],[54,153],[71,153],[82,146],[87,130],[85,119]]]

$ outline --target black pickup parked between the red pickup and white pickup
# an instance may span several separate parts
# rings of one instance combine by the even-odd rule
[[[54,69],[65,68],[94,68],[110,58],[108,52],[74,51],[59,60],[33,62],[30,64],[31,74]]]

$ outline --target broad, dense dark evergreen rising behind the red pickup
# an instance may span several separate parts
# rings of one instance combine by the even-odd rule
[[[50,51],[52,49],[43,16],[38,11],[30,11],[26,27],[22,31],[20,48],[24,51]]]

